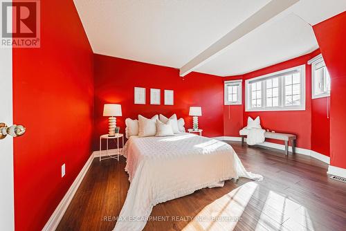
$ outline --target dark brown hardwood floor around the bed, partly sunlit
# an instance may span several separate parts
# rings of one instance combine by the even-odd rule
[[[158,204],[151,216],[169,218],[148,221],[145,230],[345,230],[346,184],[329,179],[327,164],[229,143],[246,169],[264,180],[230,180]],[[57,230],[112,230],[129,188],[124,169],[125,158],[95,158]],[[222,219],[203,219],[211,215]]]

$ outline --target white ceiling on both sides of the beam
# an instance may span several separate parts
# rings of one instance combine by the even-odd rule
[[[74,0],[94,53],[181,68],[270,0]],[[346,0],[300,0],[197,68],[237,75],[318,48],[314,25]]]

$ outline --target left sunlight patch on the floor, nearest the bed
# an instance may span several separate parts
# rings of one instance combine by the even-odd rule
[[[183,230],[233,230],[257,186],[249,182],[222,196],[204,207]]]

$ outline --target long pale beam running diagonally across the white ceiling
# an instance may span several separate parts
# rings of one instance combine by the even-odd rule
[[[251,31],[255,30],[266,21],[272,19],[273,17],[279,15],[281,12],[293,6],[300,0],[272,0],[266,6],[255,12],[255,14],[248,17],[242,24],[239,24],[233,30],[230,30],[229,33],[221,37],[221,39],[215,41],[214,44],[206,48],[199,55],[190,60],[187,64],[182,66],[179,71],[181,77],[188,75],[188,73],[194,71],[199,66],[206,64],[206,62],[215,58],[221,53],[222,50],[233,44],[244,35],[247,35]]]

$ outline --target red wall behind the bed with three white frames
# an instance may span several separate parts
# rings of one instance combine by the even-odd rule
[[[95,65],[95,136],[93,149],[99,149],[99,136],[108,132],[108,118],[102,116],[105,103],[122,106],[117,118],[120,132],[125,131],[125,118],[138,114],[151,117],[157,113],[176,113],[185,119],[185,129],[192,128],[190,106],[201,106],[199,127],[204,136],[223,136],[224,84],[221,77],[190,73],[184,79],[179,70],[104,55],[94,56]],[[134,86],[146,88],[146,104],[134,104]],[[150,89],[161,89],[161,105],[150,104]],[[163,90],[174,90],[174,106],[163,105]]]

